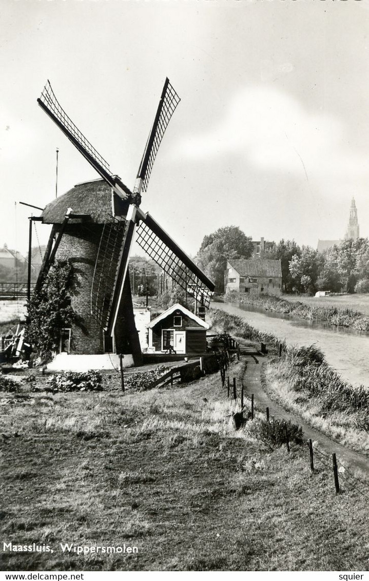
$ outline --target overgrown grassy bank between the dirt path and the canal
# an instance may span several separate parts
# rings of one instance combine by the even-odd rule
[[[260,333],[241,317],[210,311],[213,324],[242,339],[263,340],[277,347],[278,339]],[[286,347],[282,356],[266,364],[263,387],[283,407],[295,411],[307,424],[355,450],[369,455],[369,389],[354,388],[329,367],[314,346]]]

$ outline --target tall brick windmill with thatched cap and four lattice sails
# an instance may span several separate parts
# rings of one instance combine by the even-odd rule
[[[75,260],[84,268],[78,296],[83,302],[89,338],[85,331],[84,338],[80,333],[75,352],[131,353],[135,364],[139,364],[141,349],[127,275],[135,232],[137,243],[146,254],[202,305],[209,307],[214,290],[213,282],[157,221],[139,207],[157,150],[180,98],[167,78],[132,190],[110,171],[108,162],[67,116],[49,81],[37,102],[102,178],[77,184],[45,207],[42,220],[53,227],[37,285],[41,285],[55,257],[73,260],[77,253],[79,258]],[[94,323],[88,324],[89,315]]]

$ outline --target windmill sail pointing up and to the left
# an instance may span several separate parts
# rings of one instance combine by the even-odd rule
[[[131,198],[132,192],[119,177],[110,173],[108,162],[99,154],[93,145],[85,138],[83,133],[73,123],[66,114],[63,107],[56,99],[55,93],[51,88],[50,81],[46,83],[42,91],[41,98],[37,99],[38,105],[48,114],[49,117],[58,125],[59,129],[67,136],[80,153],[87,159],[92,167],[101,177],[114,188],[114,191],[121,198]]]

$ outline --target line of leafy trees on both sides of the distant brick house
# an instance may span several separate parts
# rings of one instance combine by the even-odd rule
[[[252,238],[237,226],[218,228],[203,238],[196,262],[211,278],[216,291],[224,292],[227,260],[249,259]],[[281,239],[268,244],[266,259],[281,260],[282,285],[286,293],[369,292],[369,240],[346,240],[325,252]]]

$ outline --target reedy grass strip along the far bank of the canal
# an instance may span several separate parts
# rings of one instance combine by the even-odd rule
[[[319,304],[311,304],[314,299],[306,297],[306,301],[310,303],[307,304],[307,302],[301,302],[297,299],[290,300],[272,295],[244,295],[234,291],[225,295],[225,300],[229,302],[250,304],[278,313],[291,313],[296,317],[334,325],[335,327],[350,327],[357,331],[369,332],[369,315],[348,306],[341,309],[334,304],[335,297],[330,298],[330,304],[327,302],[324,304],[321,301]]]

